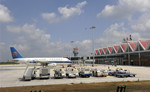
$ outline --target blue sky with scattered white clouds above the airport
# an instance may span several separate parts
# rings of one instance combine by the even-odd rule
[[[74,47],[89,56],[93,41],[103,48],[130,34],[150,39],[150,0],[0,0],[0,62],[11,46],[24,57],[73,56]]]

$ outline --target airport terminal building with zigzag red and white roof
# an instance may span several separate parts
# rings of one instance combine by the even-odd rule
[[[95,64],[150,66],[150,40],[130,40],[95,49]]]

